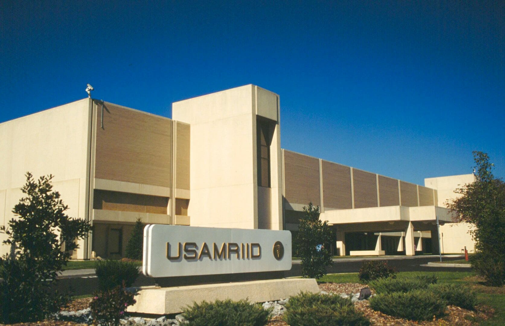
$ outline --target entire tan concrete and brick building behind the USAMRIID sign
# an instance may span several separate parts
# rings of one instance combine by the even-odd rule
[[[334,228],[336,253],[412,255],[437,252],[436,216],[442,228],[451,222],[440,198],[471,182],[414,185],[281,149],[279,96],[255,85],[175,102],[172,112],[86,98],[0,124],[0,222],[13,218],[30,171],[53,174],[69,215],[91,223],[75,258],[122,256],[137,218],[296,232],[309,201]],[[466,245],[461,231],[444,233],[444,252]]]

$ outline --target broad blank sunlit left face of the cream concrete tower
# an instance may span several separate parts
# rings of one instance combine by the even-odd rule
[[[191,125],[191,226],[258,227],[253,89],[246,85],[172,105],[173,119]]]

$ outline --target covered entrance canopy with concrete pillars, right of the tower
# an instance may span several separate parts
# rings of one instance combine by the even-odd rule
[[[437,216],[440,225],[452,222],[450,211],[439,206],[335,209],[321,213],[320,219],[335,228],[341,256],[393,254],[393,247],[397,254],[414,255],[423,247],[438,254]]]

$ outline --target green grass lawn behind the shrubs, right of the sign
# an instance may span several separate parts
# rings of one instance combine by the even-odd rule
[[[493,307],[495,314],[493,318],[481,321],[480,325],[505,325],[505,287],[487,287],[482,285],[479,278],[476,277],[473,271],[458,271],[456,273],[451,271],[402,271],[396,274],[399,279],[412,278],[417,275],[436,275],[438,284],[453,283],[470,286],[477,292],[478,299],[481,304]],[[360,283],[358,273],[345,273],[345,274],[329,274],[318,282],[334,282],[334,283]]]

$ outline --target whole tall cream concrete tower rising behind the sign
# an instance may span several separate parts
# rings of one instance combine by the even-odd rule
[[[279,95],[245,85],[172,104],[191,125],[191,226],[282,229]]]

